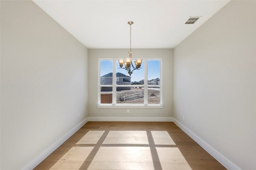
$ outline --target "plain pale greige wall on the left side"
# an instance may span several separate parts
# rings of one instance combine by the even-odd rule
[[[1,0],[1,169],[29,168],[83,122],[87,84],[84,45],[34,2]]]

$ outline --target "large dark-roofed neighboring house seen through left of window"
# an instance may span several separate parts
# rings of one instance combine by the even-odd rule
[[[113,82],[113,73],[110,72],[100,77],[101,85],[111,85]],[[120,72],[116,73],[116,84],[117,85],[131,85],[131,77],[126,76]],[[130,87],[117,87],[116,90],[131,90]],[[101,91],[112,91],[112,87],[102,87]]]

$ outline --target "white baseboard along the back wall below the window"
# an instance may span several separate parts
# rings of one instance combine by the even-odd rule
[[[172,121],[172,117],[88,117],[88,121]]]

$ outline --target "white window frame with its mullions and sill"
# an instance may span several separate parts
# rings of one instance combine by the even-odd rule
[[[148,83],[148,61],[160,61],[160,85],[149,85]],[[112,85],[101,85],[100,76],[100,62],[101,61],[112,61]],[[116,84],[116,58],[99,58],[98,59],[98,108],[163,108],[163,98],[162,98],[162,58],[144,58],[144,85],[118,85]],[[140,70],[135,70],[140,71]],[[101,104],[100,95],[101,87],[112,87],[112,104]],[[144,87],[144,104],[116,104],[116,88],[117,87]],[[148,104],[148,87],[159,87],[160,88],[160,104]]]

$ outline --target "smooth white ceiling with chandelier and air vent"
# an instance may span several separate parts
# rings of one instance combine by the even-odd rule
[[[174,48],[230,0],[34,0],[89,49]],[[184,24],[190,16],[202,16]]]

